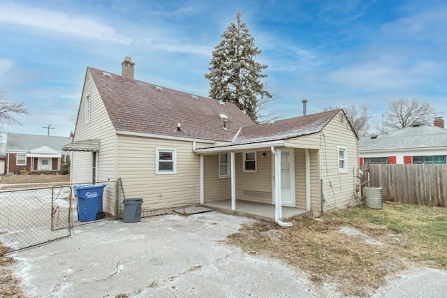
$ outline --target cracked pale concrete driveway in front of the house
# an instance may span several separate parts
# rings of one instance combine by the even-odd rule
[[[103,221],[14,253],[29,297],[315,297],[284,263],[221,243],[249,218],[217,212]]]

